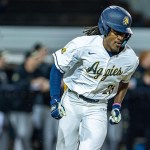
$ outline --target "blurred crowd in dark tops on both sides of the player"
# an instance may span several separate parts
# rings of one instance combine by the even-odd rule
[[[49,112],[48,49],[36,44],[22,64],[7,64],[6,55],[0,51],[0,150],[54,150],[58,121]],[[150,149],[150,52],[140,53],[139,60],[123,102],[122,121],[108,124],[103,150]],[[108,115],[111,104],[112,100]]]

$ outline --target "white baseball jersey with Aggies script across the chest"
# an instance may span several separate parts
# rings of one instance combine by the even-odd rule
[[[138,57],[128,45],[110,57],[100,35],[77,37],[53,56],[70,90],[99,100],[114,97],[119,82],[129,82],[139,64]]]

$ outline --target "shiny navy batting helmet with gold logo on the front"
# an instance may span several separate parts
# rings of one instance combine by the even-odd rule
[[[130,37],[133,34],[130,29],[131,23],[131,15],[124,8],[120,6],[109,6],[101,13],[98,28],[103,35],[107,35],[112,28],[115,31],[127,33]]]

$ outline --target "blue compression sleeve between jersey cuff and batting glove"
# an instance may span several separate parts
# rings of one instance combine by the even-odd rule
[[[56,68],[55,64],[53,64],[51,71],[50,71],[50,96],[51,98],[60,99],[62,77],[63,77],[63,74]]]

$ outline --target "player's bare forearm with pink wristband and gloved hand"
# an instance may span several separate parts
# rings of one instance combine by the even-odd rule
[[[129,83],[120,82],[118,92],[114,97],[114,104],[112,106],[111,116],[109,121],[111,124],[118,124],[121,121],[121,103],[126,95]]]

